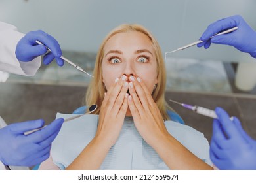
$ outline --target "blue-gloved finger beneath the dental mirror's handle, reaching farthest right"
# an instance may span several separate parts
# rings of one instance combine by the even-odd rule
[[[53,135],[54,133],[58,133],[58,131],[60,131],[63,122],[63,118],[58,118],[51,122],[51,124],[44,127],[43,129],[40,129],[39,131],[35,131],[34,133],[27,135],[27,138],[35,143],[45,141],[45,139],[51,137],[51,135]]]

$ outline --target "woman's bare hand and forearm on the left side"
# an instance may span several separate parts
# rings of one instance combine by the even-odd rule
[[[110,148],[116,143],[127,111],[128,83],[116,78],[100,110],[95,138],[66,169],[99,169]]]

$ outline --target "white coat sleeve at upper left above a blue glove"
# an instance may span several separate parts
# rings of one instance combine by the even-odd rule
[[[16,27],[0,22],[0,71],[16,75],[33,76],[41,65],[41,56],[32,61],[18,61],[15,50],[23,33],[16,31]]]

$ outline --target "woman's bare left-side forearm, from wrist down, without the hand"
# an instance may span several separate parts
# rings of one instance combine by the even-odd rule
[[[100,139],[93,139],[66,169],[99,169],[110,146]]]

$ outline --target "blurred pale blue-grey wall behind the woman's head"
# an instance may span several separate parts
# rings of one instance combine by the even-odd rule
[[[160,42],[163,52],[197,41],[207,25],[240,14],[256,29],[256,1],[207,0],[1,0],[0,21],[19,31],[43,29],[53,35],[63,50],[97,52],[106,33],[119,24],[138,23]],[[204,50],[190,48],[175,57],[251,60],[230,46],[213,45]]]

